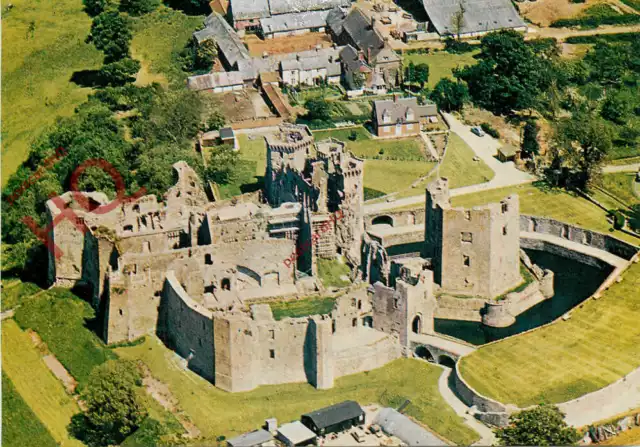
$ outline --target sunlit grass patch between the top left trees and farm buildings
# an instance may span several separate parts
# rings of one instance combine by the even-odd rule
[[[187,16],[166,6],[136,19],[131,52],[142,64],[136,83],[182,81],[186,74],[177,64],[175,55],[185,47],[203,20],[203,16]]]

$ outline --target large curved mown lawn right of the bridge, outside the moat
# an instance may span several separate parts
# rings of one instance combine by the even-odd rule
[[[568,321],[481,347],[464,357],[479,393],[520,407],[559,403],[600,389],[640,366],[640,264]]]

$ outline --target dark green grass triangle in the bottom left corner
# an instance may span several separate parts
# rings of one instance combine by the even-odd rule
[[[2,445],[55,447],[58,444],[2,372]]]

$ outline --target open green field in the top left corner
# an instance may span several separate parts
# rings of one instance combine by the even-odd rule
[[[91,19],[80,0],[2,0],[3,10],[9,3],[2,14],[3,185],[31,141],[91,92],[70,82],[73,73],[102,65],[102,53],[85,43]]]

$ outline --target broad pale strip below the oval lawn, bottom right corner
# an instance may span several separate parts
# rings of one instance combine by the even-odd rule
[[[623,380],[558,407],[566,413],[567,424],[574,427],[583,427],[640,408],[640,368]]]

